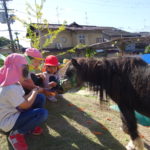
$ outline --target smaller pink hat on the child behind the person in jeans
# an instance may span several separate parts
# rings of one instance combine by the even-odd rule
[[[27,56],[31,56],[37,60],[44,60],[44,58],[42,57],[41,52],[36,49],[36,48],[27,48],[25,51],[25,55]]]

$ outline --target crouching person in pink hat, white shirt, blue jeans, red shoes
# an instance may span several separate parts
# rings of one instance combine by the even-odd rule
[[[21,83],[28,77],[28,65],[23,55],[7,56],[0,68],[0,129],[9,132],[8,140],[15,150],[27,150],[24,135],[42,133],[41,125],[48,117],[43,108],[45,96],[34,88],[24,96]]]

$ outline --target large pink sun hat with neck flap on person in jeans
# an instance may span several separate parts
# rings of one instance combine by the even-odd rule
[[[0,86],[17,83],[22,76],[22,65],[26,65],[25,56],[13,53],[6,57],[4,66],[0,68]]]

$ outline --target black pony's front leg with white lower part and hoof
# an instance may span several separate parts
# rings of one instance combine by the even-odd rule
[[[119,106],[121,111],[121,119],[123,122],[123,131],[130,135],[131,141],[126,146],[127,150],[144,150],[144,144],[137,131],[137,122],[134,110],[125,106]]]

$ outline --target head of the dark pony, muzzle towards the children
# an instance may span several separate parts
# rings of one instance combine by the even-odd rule
[[[80,64],[77,59],[72,59],[63,68],[60,69],[60,84],[64,90],[78,90],[83,85],[83,81],[80,78]]]

